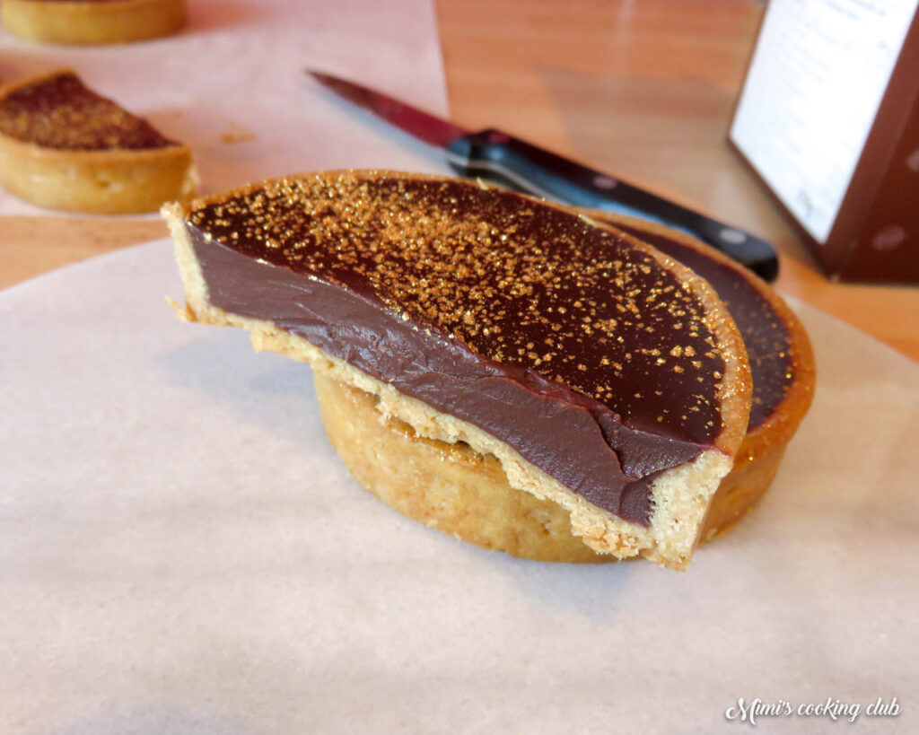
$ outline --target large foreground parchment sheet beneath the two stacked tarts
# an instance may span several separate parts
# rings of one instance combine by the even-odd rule
[[[686,573],[549,565],[375,500],[309,368],[167,294],[166,242],[0,293],[0,732],[711,732],[739,697],[915,731],[905,357],[801,308],[819,388],[763,503]]]

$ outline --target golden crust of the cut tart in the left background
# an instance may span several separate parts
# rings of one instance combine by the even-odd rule
[[[69,70],[6,85],[7,96]],[[198,192],[191,150],[169,145],[145,150],[70,150],[19,140],[0,131],[0,185],[40,207],[96,214],[150,212]]]

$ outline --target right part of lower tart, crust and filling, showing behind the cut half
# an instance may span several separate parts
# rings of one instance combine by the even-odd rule
[[[582,212],[692,268],[718,292],[743,335],[753,405],[734,468],[711,503],[702,532],[708,539],[743,516],[775,478],[785,448],[811,406],[816,379],[811,341],[773,288],[708,244],[646,220]]]

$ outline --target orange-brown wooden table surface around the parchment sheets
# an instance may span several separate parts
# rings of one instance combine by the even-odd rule
[[[919,288],[829,281],[725,143],[762,13],[754,0],[437,0],[453,118],[764,236],[783,293],[919,360]],[[0,218],[0,288],[163,236],[153,220]]]

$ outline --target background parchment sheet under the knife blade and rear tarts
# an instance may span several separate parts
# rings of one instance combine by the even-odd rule
[[[428,0],[188,0],[187,28],[65,47],[0,28],[0,81],[72,67],[194,151],[202,190],[328,168],[444,172],[443,156],[325,91],[307,68],[447,114]],[[51,214],[0,189],[0,214]]]

